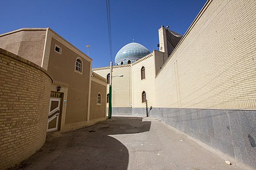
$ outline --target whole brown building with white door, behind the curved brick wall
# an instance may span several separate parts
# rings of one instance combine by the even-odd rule
[[[22,28],[2,34],[0,48],[51,75],[47,131],[77,129],[106,119],[106,79],[92,73],[91,58],[52,29]]]

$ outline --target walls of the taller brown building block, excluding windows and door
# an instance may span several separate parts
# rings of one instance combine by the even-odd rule
[[[50,28],[22,28],[5,33],[0,35],[0,45],[46,69],[55,82],[52,91],[60,84],[67,86],[61,90],[67,100],[60,120],[61,131],[98,121],[89,122],[91,58]],[[55,52],[55,45],[61,48],[61,54]],[[82,60],[82,74],[75,71],[77,57]]]

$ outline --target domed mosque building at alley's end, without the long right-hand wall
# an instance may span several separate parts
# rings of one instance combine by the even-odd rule
[[[113,114],[148,114],[146,105],[152,106],[155,103],[155,76],[181,37],[179,33],[162,26],[159,29],[159,50],[150,52],[142,44],[131,42],[118,51],[113,66]],[[109,87],[110,67],[96,68],[92,71],[105,77]],[[107,97],[109,102],[109,91]],[[141,108],[141,111],[137,112],[135,108]]]

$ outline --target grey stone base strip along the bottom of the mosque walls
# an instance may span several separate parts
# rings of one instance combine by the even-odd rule
[[[114,114],[146,117],[147,112],[146,108],[113,108]],[[153,108],[149,116],[256,169],[256,111]]]

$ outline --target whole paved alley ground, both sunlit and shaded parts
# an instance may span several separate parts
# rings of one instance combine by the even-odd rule
[[[29,146],[28,146],[29,147]],[[50,133],[20,169],[241,169],[156,118],[113,117]]]

